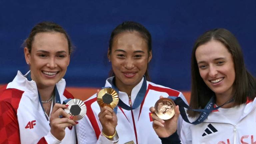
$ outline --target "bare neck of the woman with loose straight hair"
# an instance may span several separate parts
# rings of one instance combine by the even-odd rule
[[[224,103],[226,103],[227,101],[229,101],[233,97],[232,93],[229,93],[229,94],[215,94],[215,95],[216,95],[216,105],[218,105],[218,106],[223,105]],[[221,108],[231,108],[233,106],[234,106],[234,102],[230,102],[228,104],[225,104]]]

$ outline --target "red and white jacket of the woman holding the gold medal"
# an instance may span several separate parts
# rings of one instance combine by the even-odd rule
[[[132,89],[132,104],[134,103],[142,83],[143,78],[141,82]],[[108,80],[106,81],[105,87],[111,87]],[[127,93],[119,91],[118,96],[126,105],[129,105]],[[124,144],[126,142],[133,141],[135,144],[161,144],[161,140],[158,138],[152,127],[153,121],[149,111],[149,108],[155,105],[159,96],[179,96],[186,101],[181,92],[147,81],[147,90],[144,99],[138,108],[132,111],[122,109],[121,107],[118,107],[117,109],[118,124],[116,131],[119,136],[118,143]],[[76,127],[78,143],[115,143],[116,141],[109,141],[101,135],[102,126],[98,119],[100,107],[97,103],[96,94],[86,100],[85,104],[87,107],[87,116],[81,119]],[[181,126],[181,124],[182,118],[180,117],[179,125]]]

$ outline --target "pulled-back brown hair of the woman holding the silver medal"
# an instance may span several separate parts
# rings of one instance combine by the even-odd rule
[[[59,32],[59,33],[63,33],[68,41],[68,52],[69,54],[71,54],[72,50],[73,50],[73,46],[71,43],[71,40],[67,34],[67,32],[58,24],[53,23],[53,22],[41,22],[36,24],[30,34],[29,37],[24,41],[23,46],[28,48],[29,53],[31,53],[31,48],[32,48],[32,43],[34,41],[34,37],[36,34],[38,33],[42,33],[42,32]]]

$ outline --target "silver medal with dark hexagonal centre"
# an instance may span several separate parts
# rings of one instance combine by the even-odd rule
[[[68,107],[64,110],[66,113],[74,116],[74,121],[80,120],[86,115],[86,105],[83,101],[79,99],[71,99],[66,104],[68,104]]]

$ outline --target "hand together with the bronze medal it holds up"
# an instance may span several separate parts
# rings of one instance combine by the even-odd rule
[[[179,118],[179,106],[169,98],[163,98],[156,102],[155,107],[149,109],[152,112],[153,128],[159,137],[169,137],[177,130]]]

